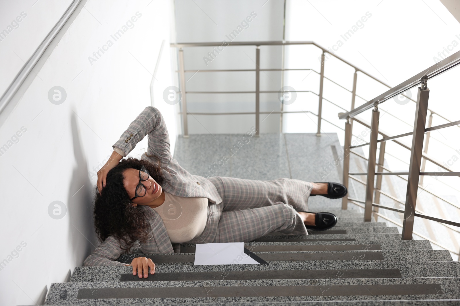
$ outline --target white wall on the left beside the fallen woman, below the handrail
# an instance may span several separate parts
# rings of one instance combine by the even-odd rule
[[[50,284],[66,281],[69,271],[98,245],[91,208],[96,171],[129,123],[151,105],[150,84],[163,40],[153,104],[166,118],[174,149],[177,106],[162,100],[164,88],[175,84],[169,49],[171,2],[83,4],[63,37],[50,46],[49,57],[37,64],[37,75],[29,76],[1,127],[0,146],[6,145],[0,156],[1,305],[42,302]],[[129,23],[137,12],[142,16]],[[127,22],[121,38],[111,38]],[[91,64],[88,57],[108,40],[113,45]],[[53,86],[67,94],[59,105],[48,100]],[[140,156],[146,145],[147,138],[131,155]],[[53,201],[66,207],[61,219],[48,213]],[[20,251],[15,252],[17,246]]]

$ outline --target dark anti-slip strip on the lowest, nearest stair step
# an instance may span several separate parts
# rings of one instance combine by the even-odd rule
[[[440,284],[332,285],[332,286],[222,286],[166,288],[84,288],[77,299],[206,298],[269,296],[442,295]]]

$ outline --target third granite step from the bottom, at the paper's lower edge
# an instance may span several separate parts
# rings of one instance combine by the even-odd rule
[[[267,262],[272,261],[452,261],[448,250],[380,250],[380,251],[316,251],[316,252],[253,252]],[[120,262],[130,263],[132,254],[122,255]],[[195,262],[195,253],[144,254],[155,265]],[[237,259],[235,259],[237,260]],[[229,262],[230,264],[230,262]]]

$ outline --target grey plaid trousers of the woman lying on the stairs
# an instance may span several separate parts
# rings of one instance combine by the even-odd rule
[[[292,178],[208,179],[223,201],[208,203],[206,228],[187,243],[248,242],[270,232],[308,234],[297,211],[308,211],[311,183]]]

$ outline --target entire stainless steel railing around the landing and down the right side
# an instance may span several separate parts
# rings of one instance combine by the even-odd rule
[[[202,72],[255,72],[255,75],[256,75],[256,88],[255,88],[255,91],[187,91],[185,89],[185,82],[184,82],[184,80],[185,80],[185,72],[198,72],[198,70],[184,70],[184,50],[183,50],[183,48],[185,48],[185,47],[198,47],[198,46],[201,46],[201,47],[204,47],[204,46],[222,46],[222,45],[224,45],[224,46],[250,46],[250,45],[255,46],[256,47],[255,69],[216,69],[216,70],[201,70],[201,71]],[[314,114],[311,111],[284,111],[282,107],[281,107],[281,111],[271,111],[270,113],[272,113],[272,112],[273,113],[279,113],[279,114],[294,113],[294,112],[297,112],[297,113],[300,113],[300,112],[311,113],[311,114],[317,116],[317,120],[318,120],[317,126],[318,126],[318,128],[317,128],[316,135],[320,136],[321,132],[322,132],[322,129],[321,129],[322,120],[325,121],[325,122],[329,122],[325,118],[322,118],[322,102],[323,102],[323,100],[326,100],[327,102],[331,103],[332,105],[339,107],[341,110],[346,111],[345,108],[343,108],[342,106],[339,106],[338,104],[336,104],[336,103],[334,103],[334,102],[332,102],[330,100],[327,100],[327,99],[325,99],[323,97],[324,78],[326,78],[331,83],[334,83],[335,85],[339,86],[340,88],[345,89],[348,92],[351,92],[351,97],[352,97],[351,98],[351,111],[341,113],[339,115],[339,118],[340,119],[347,119],[347,122],[345,124],[345,129],[344,129],[345,130],[345,149],[346,150],[350,150],[353,147],[360,147],[360,146],[363,146],[363,145],[369,145],[368,172],[367,173],[356,173],[356,174],[366,174],[367,177],[368,177],[368,182],[366,184],[366,202],[365,202],[366,205],[365,205],[365,214],[364,214],[365,221],[370,221],[370,217],[371,217],[372,212],[369,209],[369,207],[372,208],[373,205],[374,205],[374,207],[376,209],[378,209],[378,207],[385,208],[384,206],[381,206],[379,204],[380,197],[377,196],[377,195],[380,196],[380,194],[385,195],[385,193],[382,190],[380,190],[382,176],[383,175],[397,175],[398,177],[401,177],[401,175],[408,175],[408,178],[409,178],[408,179],[408,195],[407,195],[408,200],[406,200],[406,206],[405,206],[405,217],[406,217],[406,215],[408,215],[407,216],[408,219],[405,218],[405,220],[404,220],[403,239],[410,239],[412,237],[414,217],[422,217],[422,218],[434,220],[434,221],[440,222],[441,224],[443,224],[443,222],[445,222],[445,223],[450,222],[448,220],[438,219],[438,218],[435,218],[435,217],[425,216],[425,215],[421,215],[421,214],[417,214],[417,213],[415,215],[414,215],[414,213],[409,213],[408,214],[408,209],[413,208],[413,211],[414,212],[416,211],[415,210],[416,189],[420,186],[418,184],[420,175],[422,175],[422,176],[424,176],[424,175],[460,176],[460,172],[453,172],[448,167],[445,167],[441,163],[435,161],[433,158],[428,156],[427,155],[427,150],[426,150],[427,145],[425,146],[425,149],[423,151],[421,149],[421,146],[423,145],[423,139],[424,139],[424,134],[425,133],[427,133],[427,135],[428,135],[427,137],[429,137],[430,131],[437,130],[439,128],[447,128],[447,127],[450,127],[450,126],[460,124],[460,120],[451,122],[448,119],[446,119],[446,118],[444,118],[442,116],[439,116],[439,117],[443,118],[444,120],[449,121],[449,123],[445,123],[445,124],[441,124],[441,125],[438,125],[438,126],[435,126],[435,127],[431,127],[432,114],[437,114],[437,113],[428,109],[428,94],[429,94],[429,90],[426,87],[426,81],[428,79],[433,78],[433,77],[435,77],[435,76],[437,76],[437,75],[449,70],[450,68],[455,67],[456,65],[458,65],[460,63],[460,51],[455,53],[455,54],[453,54],[453,55],[451,55],[451,56],[449,56],[448,58],[438,62],[437,64],[429,67],[425,71],[420,72],[419,74],[415,75],[414,77],[409,78],[408,80],[404,81],[403,83],[391,88],[388,84],[380,81],[378,78],[375,78],[374,76],[362,71],[358,67],[352,65],[350,62],[345,61],[344,59],[342,59],[339,56],[331,53],[329,50],[323,48],[320,45],[317,45],[316,43],[314,43],[312,41],[296,41],[296,42],[288,42],[288,41],[263,41],[263,42],[259,41],[259,42],[255,42],[255,41],[252,41],[252,42],[228,42],[228,43],[227,42],[224,42],[224,43],[221,43],[221,42],[209,42],[209,43],[178,43],[178,44],[171,44],[172,47],[179,48],[179,60],[180,60],[180,65],[179,66],[180,67],[179,67],[178,72],[180,74],[180,80],[181,80],[181,91],[184,93],[184,100],[183,100],[184,103],[182,105],[182,111],[180,112],[180,114],[182,114],[182,116],[185,117],[185,118],[187,117],[188,114],[191,114],[191,115],[193,115],[193,114],[203,114],[203,115],[255,114],[256,115],[256,118],[255,118],[256,127],[258,128],[258,130],[257,130],[258,132],[256,133],[256,136],[259,136],[259,115],[260,114],[267,114],[267,113],[270,114],[269,112],[262,112],[262,111],[259,110],[259,106],[260,106],[259,94],[260,93],[276,93],[276,92],[278,92],[278,91],[261,91],[260,88],[259,88],[259,85],[260,85],[259,84],[259,73],[260,73],[260,71],[264,71],[264,69],[261,69],[260,66],[259,66],[259,64],[260,64],[260,46],[264,46],[264,45],[280,45],[280,46],[283,46],[283,47],[285,45],[314,45],[317,48],[322,50],[322,54],[321,54],[321,71],[320,72],[317,72],[316,70],[310,69],[310,68],[289,69],[289,68],[284,68],[284,66],[281,69],[276,69],[276,68],[265,69],[265,71],[282,71],[282,72],[284,72],[284,71],[294,71],[294,70],[296,70],[296,71],[311,70],[311,72],[315,72],[315,73],[319,74],[320,75],[320,86],[319,86],[319,92],[318,93],[315,93],[312,90],[299,91],[299,92],[311,92],[314,95],[318,96],[318,98],[319,98],[319,101],[318,101],[318,113]],[[355,69],[354,79],[353,79],[353,89],[352,90],[347,89],[344,86],[340,85],[339,83],[333,81],[331,78],[328,78],[328,77],[324,76],[325,53],[328,53],[328,55],[339,59],[340,61],[344,62],[345,64],[347,64],[350,67],[353,67]],[[390,89],[387,90],[386,92],[384,92],[383,94],[375,97],[374,99],[365,102],[363,105],[355,108],[356,96],[358,96],[360,99],[363,99],[361,96],[357,95],[357,93],[356,93],[357,72],[362,72],[364,75],[376,80],[377,82],[379,82],[381,84],[384,84],[385,86],[387,86]],[[415,86],[417,86],[419,84],[422,84],[422,86],[419,88],[419,95],[417,97],[417,101],[415,101],[412,98],[404,95],[405,91],[407,91],[408,89],[414,88]],[[194,113],[194,112],[187,111],[186,99],[185,99],[186,94],[220,94],[220,93],[225,93],[225,94],[231,94],[231,93],[254,94],[255,93],[255,96],[256,96],[255,112],[231,112],[231,113],[229,113],[229,112],[220,112],[220,113],[203,113],[203,112],[200,112],[200,113]],[[397,95],[403,95],[406,98],[408,98],[409,100],[412,100],[412,101],[416,102],[416,108],[417,108],[416,116],[417,117],[415,118],[414,131],[409,132],[409,133],[405,133],[405,134],[396,135],[396,136],[388,136],[388,135],[382,133],[382,131],[379,131],[379,129],[378,129],[378,119],[379,119],[378,105],[383,103],[383,102],[385,102],[388,99],[391,99],[392,97],[397,96]],[[281,100],[281,102],[283,102],[283,101]],[[374,111],[373,111],[371,124],[365,124],[364,122],[362,122],[362,120],[359,120],[359,119],[355,118],[355,116],[357,114],[361,113],[362,111],[368,110],[368,109],[370,109],[372,107],[374,107]],[[421,109],[420,109],[420,107],[421,107]],[[430,115],[429,127],[425,128],[425,118],[426,118],[426,112],[428,110],[431,112],[431,115]],[[439,115],[439,114],[437,114],[437,115]],[[401,120],[402,122],[404,122],[404,123],[408,124],[409,126],[411,126],[410,123],[405,122],[404,120],[402,120],[402,119],[400,119],[400,118],[398,118],[398,117],[396,117],[396,116],[394,116],[392,114],[391,114],[391,116],[393,116],[393,117],[397,118],[398,120]],[[280,117],[281,117],[280,118],[280,124],[281,124],[282,116],[280,116]],[[357,121],[358,123],[361,123],[364,126],[367,126],[367,127],[371,128],[371,138],[370,138],[371,141],[370,141],[370,143],[351,146],[351,136],[352,136],[351,124],[352,124],[353,121]],[[421,122],[423,122],[423,127],[421,126]],[[334,125],[337,128],[340,128],[339,126],[337,126],[336,124],[334,124],[332,122],[329,122],[329,123]],[[184,119],[184,124],[186,125],[186,119]],[[281,125],[280,125],[280,127],[281,127]],[[340,128],[340,129],[343,129],[343,128]],[[382,139],[377,139],[378,134],[382,135]],[[408,145],[405,145],[402,142],[396,140],[398,138],[409,136],[409,135],[413,135],[413,144],[412,144],[411,147],[409,147]],[[184,127],[184,137],[187,137],[187,136],[188,136],[188,132],[187,132],[186,127]],[[402,146],[403,148],[411,150],[411,161],[410,161],[410,164],[409,164],[409,172],[383,172],[383,170],[385,169],[385,167],[383,167],[384,154],[385,154],[385,142],[387,140],[391,140],[391,141],[397,143],[398,145]],[[377,163],[375,161],[375,159],[376,159],[376,151],[377,151],[377,143],[378,142],[381,143],[381,145],[380,145],[379,163]],[[414,151],[417,152],[418,156],[414,156]],[[345,152],[345,155],[348,155],[348,154],[349,153]],[[446,172],[425,172],[424,170],[422,170],[420,168],[420,165],[418,165],[418,166],[416,165],[417,162],[420,163],[421,158],[424,159],[424,163],[425,163],[425,161],[431,161],[433,164],[435,164],[435,165],[437,165],[439,167],[442,167],[443,169],[449,171],[449,174],[446,174]],[[417,160],[419,160],[419,161],[417,161]],[[346,168],[345,168],[345,164],[347,164]],[[349,164],[349,159],[347,161],[347,159],[345,157],[344,172],[343,173],[344,173],[344,184],[346,186],[348,185],[348,178],[351,177],[350,174],[354,174],[354,173],[349,173],[349,165],[348,164]],[[376,165],[379,167],[377,171],[375,171],[375,166]],[[413,167],[413,165],[415,165],[415,166]],[[424,169],[424,167],[425,166],[423,166],[422,168]],[[387,169],[385,169],[385,170],[387,170]],[[414,177],[413,181],[410,181],[411,177]],[[351,177],[351,178],[353,178],[353,177]],[[372,178],[372,179],[370,179],[370,178]],[[373,203],[373,201],[372,201],[373,194],[374,194],[374,178],[378,178],[377,179],[377,185],[375,187],[375,190],[377,191],[377,194],[376,194],[376,202],[377,203]],[[416,182],[414,182],[414,180],[416,180]],[[371,182],[371,183],[369,183],[369,182]],[[343,209],[346,209],[346,202],[347,202],[347,199],[343,199],[343,202],[342,202],[342,208]],[[408,203],[409,203],[409,205],[408,205]],[[450,202],[448,202],[448,203],[451,204]],[[457,226],[460,223],[452,223],[452,222],[450,222],[450,224]],[[410,238],[408,238],[409,236],[410,236]]]

